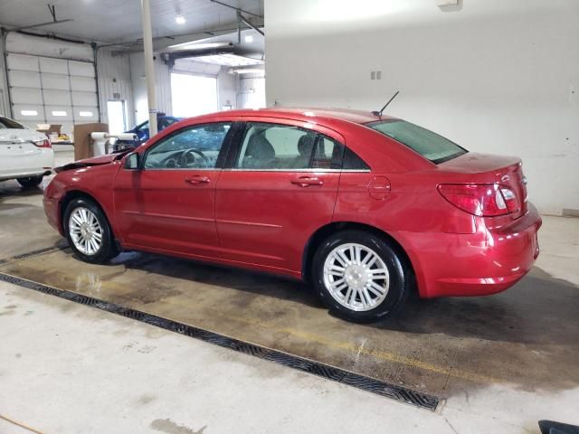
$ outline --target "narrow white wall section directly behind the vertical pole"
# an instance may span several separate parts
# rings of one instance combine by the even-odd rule
[[[133,120],[135,124],[139,124],[148,119],[145,55],[142,52],[131,52],[129,61],[134,100]],[[157,87],[157,110],[171,115],[171,73],[168,65],[158,56],[155,59],[155,84]]]

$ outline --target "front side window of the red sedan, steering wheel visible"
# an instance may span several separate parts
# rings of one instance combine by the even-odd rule
[[[145,169],[213,169],[231,127],[218,122],[181,129],[147,151]]]

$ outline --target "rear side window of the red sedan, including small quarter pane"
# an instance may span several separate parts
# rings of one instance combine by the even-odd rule
[[[249,122],[235,166],[254,170],[339,169],[343,146],[315,131]]]

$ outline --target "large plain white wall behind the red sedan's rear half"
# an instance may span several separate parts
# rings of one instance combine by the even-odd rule
[[[579,210],[579,2],[265,0],[268,105],[380,109],[521,156],[541,212]],[[381,80],[371,80],[381,71]]]

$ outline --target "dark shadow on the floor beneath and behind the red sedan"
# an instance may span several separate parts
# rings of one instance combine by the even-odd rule
[[[111,264],[325,309],[307,284],[285,278],[139,252],[122,253]],[[501,294],[411,299],[393,317],[359,326],[519,344],[578,344],[579,288],[534,268]]]

